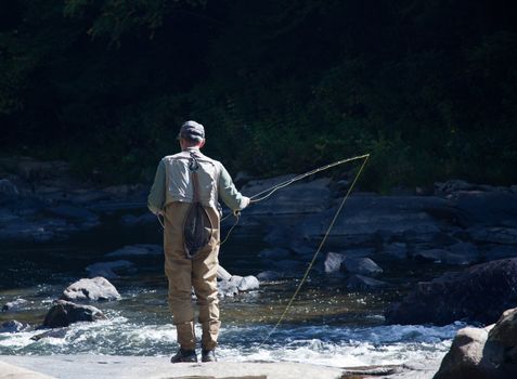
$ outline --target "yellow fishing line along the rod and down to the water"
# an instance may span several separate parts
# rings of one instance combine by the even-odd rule
[[[280,324],[282,323],[282,321],[284,319],[285,315],[287,314],[287,311],[289,310],[290,305],[293,305],[293,302],[295,301],[295,298],[298,296],[298,292],[300,291],[300,288],[301,286],[303,285],[303,283],[307,280],[307,277],[309,276],[309,272],[310,270],[312,269],[312,266],[314,265],[314,262],[318,258],[318,254],[320,253],[321,249],[323,248],[323,245],[325,244],[328,235],[331,234],[331,230],[334,227],[334,224],[336,223],[336,220],[337,220],[337,217],[339,215],[339,213],[341,212],[342,210],[342,207],[345,206],[345,202],[347,201],[347,199],[349,198],[350,196],[350,193],[352,192],[357,181],[359,180],[359,177],[361,175],[361,172],[363,171],[364,169],[364,166],[366,165],[366,161],[369,160],[369,157],[370,157],[370,154],[365,154],[363,156],[360,156],[360,157],[353,157],[353,158],[349,158],[349,159],[344,159],[344,160],[340,160],[339,164],[344,164],[346,161],[351,161],[351,160],[356,160],[356,159],[360,159],[360,158],[364,158],[362,165],[361,165],[361,168],[359,169],[358,173],[356,174],[356,178],[353,179],[352,181],[352,184],[350,185],[350,187],[348,188],[347,191],[347,194],[345,195],[345,197],[342,198],[341,200],[341,204],[339,205],[339,207],[337,208],[337,211],[336,213],[334,214],[334,218],[332,219],[332,222],[331,224],[328,225],[328,228],[326,230],[325,232],[325,235],[323,236],[323,239],[321,240],[320,243],[320,246],[318,247],[315,253],[314,253],[314,257],[312,258],[311,262],[309,263],[309,266],[307,267],[306,270],[306,273],[303,274],[303,277],[301,278],[300,283],[298,284],[298,287],[296,288],[295,290],[295,293],[293,295],[293,297],[290,298],[289,302],[287,303],[287,305],[285,306],[285,310],[284,312],[282,313],[282,315],[280,316],[279,321],[276,322],[276,324],[273,326],[273,328],[271,329],[271,331],[268,334],[268,337],[266,337],[266,339],[259,344],[259,347],[257,349],[260,349],[271,337],[271,335],[273,335],[273,332],[277,329],[277,327],[280,326]],[[331,165],[327,165],[327,166],[324,166],[326,168],[329,168],[329,167],[333,167],[333,166],[337,166],[339,165],[337,162],[335,164],[331,164]],[[323,169],[323,168],[321,168]],[[315,169],[318,170],[318,169]],[[315,171],[313,170],[313,171]],[[320,170],[322,171],[322,170]],[[318,172],[318,171],[315,171]],[[306,175],[306,174],[303,174]],[[301,177],[301,175],[300,175]],[[298,178],[298,177],[297,177]],[[303,177],[305,178],[305,177]],[[295,178],[296,179],[296,178]],[[285,182],[286,183],[286,182]],[[280,190],[282,187],[284,183],[281,183],[279,184],[279,186],[275,186],[277,188],[275,188],[274,191],[276,190]],[[290,184],[290,183],[289,183]],[[286,184],[288,185],[288,184]],[[283,185],[285,186],[285,185]],[[274,187],[273,187],[274,188]],[[273,192],[274,192],[273,191]],[[273,193],[272,192],[272,193]],[[264,193],[264,192],[263,192]],[[272,194],[271,193],[271,194]],[[270,196],[271,194],[264,196],[264,198],[267,198],[268,196]],[[257,196],[257,195],[256,195]]]

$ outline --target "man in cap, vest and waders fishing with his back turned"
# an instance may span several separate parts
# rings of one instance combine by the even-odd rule
[[[181,153],[160,160],[147,198],[150,210],[165,220],[165,273],[180,344],[171,362],[197,362],[192,287],[199,305],[202,361],[215,362],[220,327],[218,198],[233,211],[246,208],[249,198],[238,193],[219,161],[199,152],[205,145],[205,128],[201,123],[183,123],[178,140]]]

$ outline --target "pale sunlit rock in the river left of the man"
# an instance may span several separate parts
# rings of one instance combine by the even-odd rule
[[[63,291],[61,298],[67,301],[107,301],[119,300],[120,293],[107,279],[98,276],[73,283]]]

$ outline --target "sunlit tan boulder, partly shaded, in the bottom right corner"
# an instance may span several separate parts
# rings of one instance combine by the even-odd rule
[[[517,377],[517,309],[503,313],[487,328],[457,331],[435,379]]]

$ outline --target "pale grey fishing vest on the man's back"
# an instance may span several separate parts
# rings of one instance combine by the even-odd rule
[[[191,154],[194,155],[198,165],[196,169],[198,201],[205,207],[218,209],[218,183],[221,165],[219,161],[203,155],[195,148],[186,149],[164,158],[166,172],[165,204],[172,201],[194,201],[194,184],[192,183],[192,172],[189,168]]]

